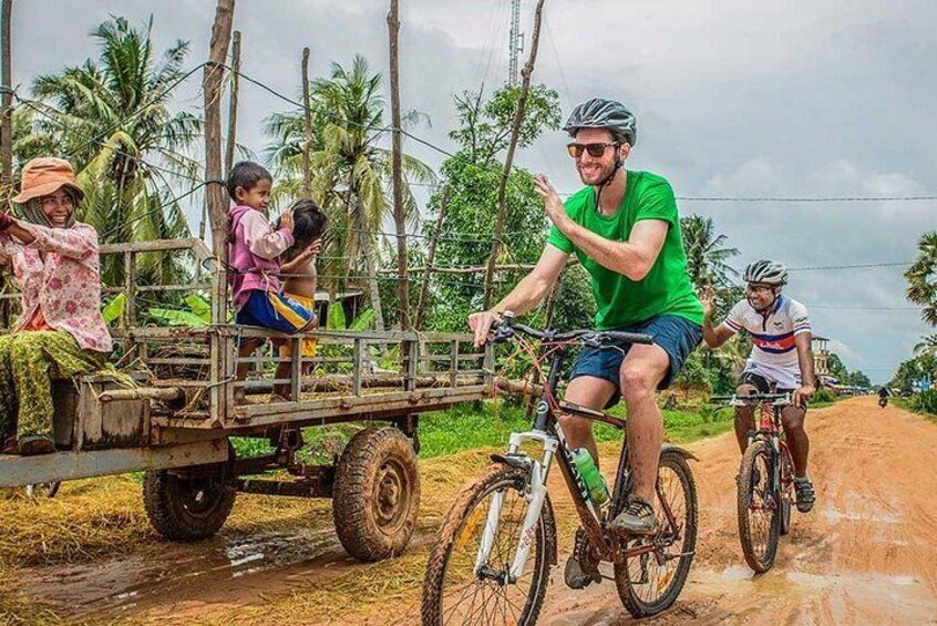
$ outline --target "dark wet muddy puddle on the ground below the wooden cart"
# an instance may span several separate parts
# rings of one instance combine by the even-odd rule
[[[230,593],[224,581],[270,569],[276,569],[278,584],[288,584],[290,575],[349,560],[332,528],[253,532],[187,545],[165,543],[164,547],[157,556],[34,568],[34,578],[25,581],[24,591],[80,616],[127,610],[147,601],[165,604],[167,598],[203,599],[212,593]],[[254,595],[250,588],[246,592],[239,595]]]

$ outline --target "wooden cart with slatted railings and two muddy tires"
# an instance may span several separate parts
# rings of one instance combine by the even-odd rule
[[[331,497],[338,536],[352,556],[373,561],[403,551],[420,500],[418,414],[490,397],[491,350],[476,350],[462,333],[316,331],[309,336],[318,353],[307,359],[301,336],[226,324],[225,273],[200,239],[110,245],[101,253],[102,261],[123,259],[123,285],[104,293],[126,298],[113,337],[121,370],[137,383],[107,373],[54,380],[60,452],[0,456],[0,486],[144,471],[152,524],[179,541],[216,533],[238,492]],[[137,284],[142,266],[173,255],[188,264],[193,284]],[[169,291],[204,294],[213,324],[140,326],[147,299]],[[251,337],[292,342],[290,379],[272,378],[279,358],[271,351],[245,359],[253,372],[235,381],[237,341]],[[277,383],[289,386],[292,401],[271,401]],[[239,386],[253,403],[235,406]],[[369,425],[333,462],[300,459],[303,428],[348,421]],[[231,437],[267,440],[269,452],[240,458]],[[285,473],[271,478],[277,470]]]

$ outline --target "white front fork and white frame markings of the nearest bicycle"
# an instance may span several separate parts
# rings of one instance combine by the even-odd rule
[[[527,511],[524,514],[524,522],[521,525],[521,536],[517,542],[517,550],[514,553],[514,561],[508,569],[508,583],[514,583],[524,575],[524,568],[527,564],[527,556],[531,554],[531,546],[534,544],[534,538],[537,533],[537,522],[540,517],[544,501],[546,500],[547,485],[546,480],[549,473],[549,466],[556,456],[556,451],[560,445],[567,449],[566,437],[563,434],[563,429],[556,424],[556,435],[552,435],[542,430],[531,430],[527,432],[514,432],[511,434],[511,440],[507,444],[508,455],[518,455],[521,445],[528,441],[536,441],[544,447],[543,461],[537,459],[527,459],[531,462],[531,481],[529,488],[524,493],[524,499],[527,501]],[[570,471],[578,483],[581,483],[581,476],[576,466],[570,463]],[[477,575],[482,567],[488,562],[492,547],[494,546],[495,535],[497,534],[497,526],[501,520],[501,509],[504,504],[504,491],[496,492],[492,496],[491,505],[488,506],[488,514],[485,520],[485,530],[482,533],[482,542],[478,546],[478,555],[475,558],[475,574]],[[585,494],[584,494],[585,495]],[[589,511],[596,517],[598,512],[595,509],[591,500],[584,497]]]

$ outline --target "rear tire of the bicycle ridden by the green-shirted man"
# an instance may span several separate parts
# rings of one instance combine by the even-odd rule
[[[680,592],[683,591],[683,585],[687,583],[687,576],[690,573],[693,552],[697,545],[699,503],[697,501],[697,486],[689,463],[682,454],[676,451],[666,451],[660,455],[657,472],[658,484],[667,480],[666,476],[672,473],[672,476],[677,480],[678,489],[681,492],[681,499],[683,501],[682,513],[679,511],[675,513],[678,526],[682,525],[682,527],[676,530],[678,538],[672,544],[676,548],[673,552],[668,551],[665,553],[665,556],[669,557],[666,561],[667,563],[673,558],[678,558],[679,562],[672,571],[665,571],[665,578],[662,579],[666,582],[663,586],[660,584],[661,579],[657,577],[663,566],[657,564],[653,555],[646,553],[642,556],[628,557],[615,564],[615,586],[618,589],[618,597],[628,613],[632,617],[638,618],[657,615],[670,608],[677,602]],[[673,506],[673,500],[668,497],[668,501],[671,511],[676,509]],[[660,541],[661,538],[666,538],[667,533],[675,532],[670,527],[669,522],[667,522],[667,517],[662,514],[660,493],[658,493],[658,502],[655,510],[661,528],[652,540]],[[680,531],[682,531],[682,537],[680,537]],[[632,538],[629,541],[634,545],[638,545],[640,542],[647,540]],[[651,561],[653,563],[650,563]],[[647,576],[649,564],[655,567],[655,577],[652,579]],[[641,577],[636,582],[632,579],[632,573],[640,573]],[[645,578],[648,579],[645,582]],[[656,595],[651,597],[650,594]]]

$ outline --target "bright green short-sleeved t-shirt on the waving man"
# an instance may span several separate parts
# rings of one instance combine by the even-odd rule
[[[649,172],[629,171],[618,213],[611,216],[598,213],[595,189],[586,187],[566,201],[566,214],[576,224],[612,242],[627,242],[635,223],[641,219],[660,219],[669,225],[653,267],[638,281],[603,267],[556,226],[550,228],[547,242],[567,254],[575,253],[591,276],[598,330],[642,322],[661,314],[702,324],[702,305],[687,274],[687,253],[670,183]]]

